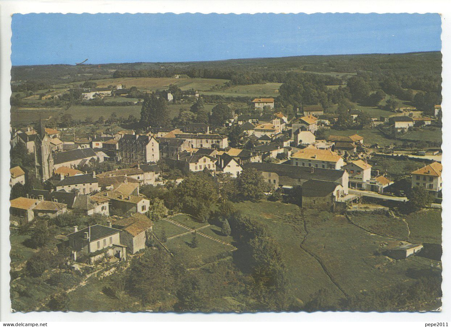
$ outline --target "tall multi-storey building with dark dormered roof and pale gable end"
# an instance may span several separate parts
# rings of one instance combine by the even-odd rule
[[[119,140],[119,153],[121,161],[127,164],[160,160],[159,145],[153,136],[125,134]]]

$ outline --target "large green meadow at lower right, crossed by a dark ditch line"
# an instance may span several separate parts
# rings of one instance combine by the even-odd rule
[[[237,208],[244,209],[245,213],[269,227],[284,255],[289,271],[290,291],[303,302],[323,289],[327,290],[331,303],[338,301],[344,295],[336,285],[346,294],[356,295],[362,290],[380,290],[381,286],[385,289],[397,283],[410,282],[413,279],[406,276],[408,269],[426,269],[430,264],[437,263],[418,256],[394,261],[377,255],[381,245],[393,242],[392,238],[366,232],[352,225],[344,216],[324,211],[304,209],[308,231],[306,235],[302,224],[291,225],[279,220],[278,217],[293,211],[290,205],[278,203],[279,214],[268,219],[259,214],[267,204],[267,201],[241,202],[237,204]],[[421,225],[424,218],[424,215],[413,216],[411,220],[416,219],[416,223]],[[409,223],[409,218],[406,220]],[[406,235],[402,221],[379,221],[369,225],[384,235]],[[412,236],[412,227],[410,229]],[[436,227],[430,228],[431,237],[440,237],[440,232]],[[305,250],[300,248],[304,236]]]

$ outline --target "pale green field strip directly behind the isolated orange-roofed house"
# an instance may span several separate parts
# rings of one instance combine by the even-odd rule
[[[276,97],[279,94],[279,87],[282,83],[265,83],[252,85],[230,86],[222,90],[201,92],[203,95],[222,95],[230,97],[250,96],[250,97]]]

